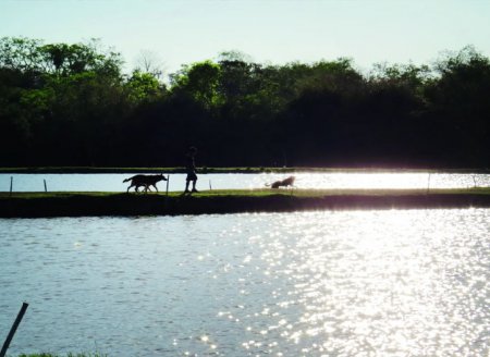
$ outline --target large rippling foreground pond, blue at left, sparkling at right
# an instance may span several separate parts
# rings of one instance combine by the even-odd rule
[[[488,356],[489,218],[0,220],[0,332],[27,300],[13,355]]]

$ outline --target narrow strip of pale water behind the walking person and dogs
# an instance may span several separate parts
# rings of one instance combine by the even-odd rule
[[[199,174],[198,189],[252,189],[264,188],[290,174]],[[467,188],[490,186],[490,174],[454,174],[427,172],[338,172],[294,173],[299,188]],[[48,190],[71,192],[125,192],[128,183],[124,178],[133,174],[0,174],[0,192],[9,192],[11,177],[14,192],[42,192],[44,181]],[[167,182],[157,184],[159,190],[167,189]],[[171,174],[169,190],[183,190],[184,174]],[[133,188],[132,188],[133,189]]]

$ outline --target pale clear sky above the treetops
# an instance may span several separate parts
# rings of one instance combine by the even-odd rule
[[[150,51],[167,73],[240,50],[261,63],[352,58],[430,64],[474,45],[490,57],[490,0],[0,0],[0,37],[100,38],[132,69]]]

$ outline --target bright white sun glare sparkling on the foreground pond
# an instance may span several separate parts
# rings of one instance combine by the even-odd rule
[[[275,303],[264,306],[256,327],[253,315],[245,317],[256,337],[244,347],[264,350],[258,343],[267,340],[271,354],[285,344],[314,356],[478,356],[485,324],[471,325],[468,311],[488,319],[485,296],[471,296],[473,282],[461,280],[478,262],[441,219],[425,221],[422,211],[351,212],[341,220],[302,213],[278,222],[285,235],[250,238],[262,248]]]

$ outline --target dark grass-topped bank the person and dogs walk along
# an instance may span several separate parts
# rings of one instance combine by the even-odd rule
[[[254,189],[182,193],[0,194],[0,217],[160,216],[287,212],[320,209],[490,207],[490,188],[433,189]]]

